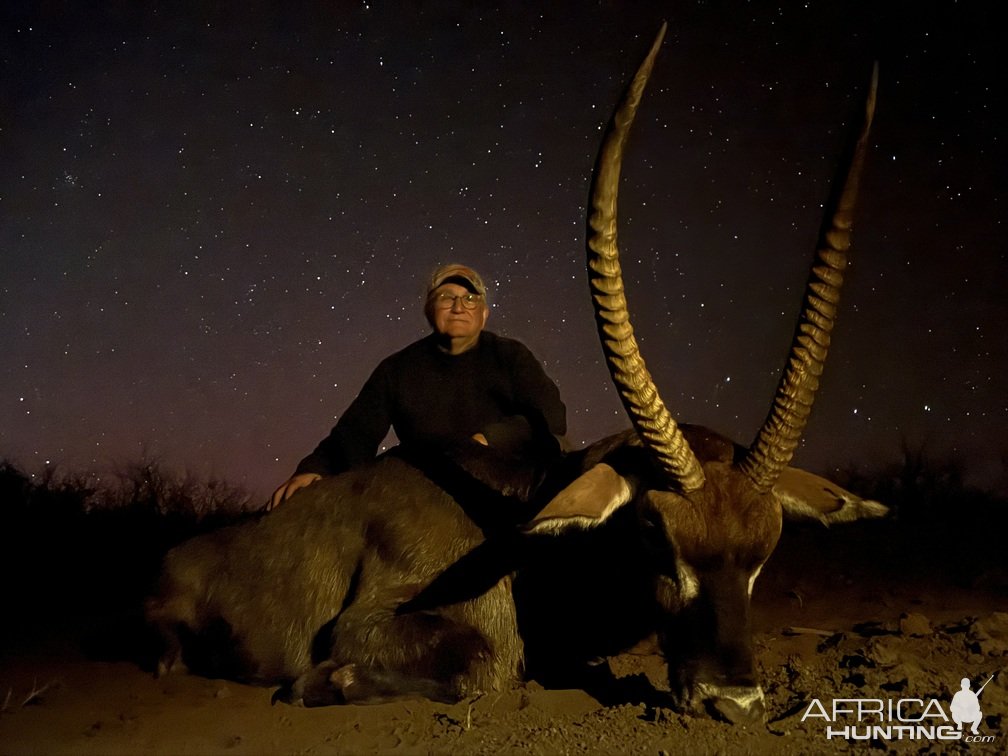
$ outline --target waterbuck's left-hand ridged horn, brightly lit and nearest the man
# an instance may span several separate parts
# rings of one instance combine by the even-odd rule
[[[593,212],[588,222],[591,228],[588,277],[602,350],[623,406],[658,467],[683,491],[695,491],[704,485],[704,471],[661,401],[640,355],[630,325],[616,238],[616,201],[623,149],[666,26],[663,23],[658,30],[650,51],[613,116],[599,151],[592,187]]]

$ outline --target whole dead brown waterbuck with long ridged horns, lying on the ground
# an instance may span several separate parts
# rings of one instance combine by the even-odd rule
[[[885,511],[788,467],[830,345],[876,76],[776,396],[743,448],[676,424],[624,297],[619,174],[663,35],[664,26],[616,111],[591,200],[592,300],[632,429],[524,485],[501,483],[492,451],[424,460],[393,452],[304,488],[256,522],[181,544],[147,605],[165,639],[161,671],[184,661],[285,683],[282,698],[308,705],[458,700],[518,680],[526,641],[531,660],[562,666],[656,633],[679,705],[733,721],[763,716],[750,598],[783,516],[837,522]],[[509,507],[517,527],[507,526]]]

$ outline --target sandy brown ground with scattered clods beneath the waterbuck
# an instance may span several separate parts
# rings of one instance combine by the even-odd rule
[[[964,598],[977,606],[990,600]],[[933,603],[907,603],[915,601]],[[845,608],[854,610],[847,601]],[[903,705],[904,718],[921,719],[930,707],[922,723],[951,728],[941,731],[951,737],[955,723],[941,719],[935,706],[948,716],[964,676],[974,690],[993,676],[980,698],[982,740],[969,749],[1004,752],[1008,613],[950,619],[918,609],[872,619],[866,612],[869,619],[840,630],[795,624],[801,615],[791,606],[776,615],[787,624],[756,634],[769,712],[764,726],[732,726],[652,703],[604,706],[585,690],[548,690],[534,681],[453,706],[421,700],[316,710],[270,706],[265,688],[186,675],[156,680],[135,664],[95,661],[73,645],[50,642],[4,659],[0,743],[11,754],[847,752],[848,739],[828,737],[828,728],[858,726],[860,737],[867,727],[887,723],[878,716],[834,717],[835,701],[847,701],[844,711],[856,700],[919,702]],[[646,649],[606,663],[628,691],[665,686],[661,657]],[[959,737],[958,729],[954,734]],[[898,752],[967,745],[912,727],[902,739],[898,733],[879,737],[877,730],[868,735],[862,745]]]

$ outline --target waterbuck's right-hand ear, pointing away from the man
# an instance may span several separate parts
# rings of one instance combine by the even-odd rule
[[[862,499],[836,483],[797,468],[784,468],[773,486],[784,516],[790,520],[817,520],[824,525],[884,517],[889,508]]]

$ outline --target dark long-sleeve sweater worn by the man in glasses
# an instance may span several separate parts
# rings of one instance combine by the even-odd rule
[[[516,456],[549,453],[566,432],[559,390],[521,342],[484,331],[449,355],[428,336],[386,358],[297,473],[332,475],[374,458],[395,430],[404,447],[447,448],[483,433]]]

